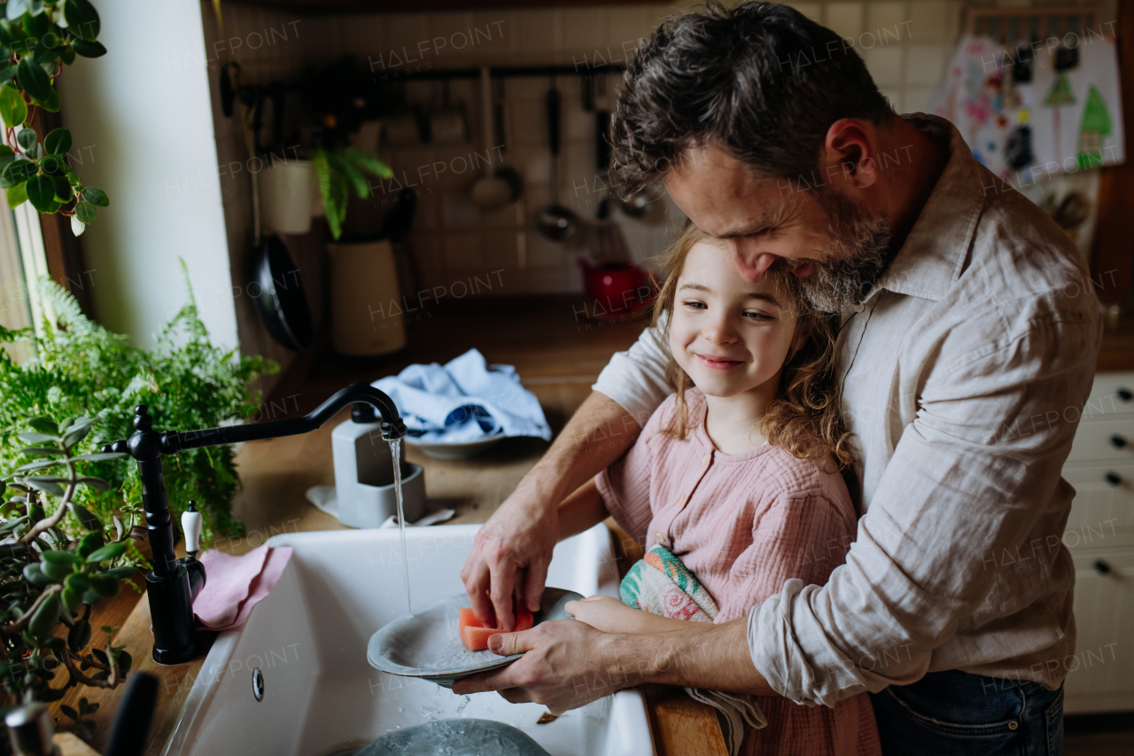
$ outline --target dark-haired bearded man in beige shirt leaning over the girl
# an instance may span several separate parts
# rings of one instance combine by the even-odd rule
[[[502,633],[493,650],[526,655],[454,690],[553,711],[642,681],[807,705],[869,690],[888,754],[1061,753],[1060,468],[1101,338],[1074,246],[947,121],[894,115],[849,43],[784,6],[669,19],[629,66],[613,136],[625,191],[663,183],[745,278],[780,261],[843,313],[864,515],[826,586],[788,581],[746,621]],[[650,333],[615,355],[481,530],[462,573],[480,615],[511,627],[514,588],[538,605],[558,503],[669,393],[663,363]]]

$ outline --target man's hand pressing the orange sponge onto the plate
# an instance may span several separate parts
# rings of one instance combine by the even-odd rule
[[[477,531],[460,579],[485,627],[515,625],[513,594],[517,605],[540,611],[548,564],[559,540],[557,504],[533,498],[521,485]]]

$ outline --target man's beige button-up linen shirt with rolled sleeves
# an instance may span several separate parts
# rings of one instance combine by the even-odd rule
[[[1053,689],[1074,653],[1061,543],[1074,489],[1060,469],[1094,375],[1099,303],[1042,211],[948,121],[905,118],[951,154],[839,334],[865,514],[826,586],[790,580],[748,616],[752,661],[797,703],[940,670]],[[670,393],[666,360],[646,331],[594,389],[644,425]]]

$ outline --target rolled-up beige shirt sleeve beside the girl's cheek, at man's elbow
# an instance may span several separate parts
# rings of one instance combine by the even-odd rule
[[[592,390],[604,394],[629,412],[638,427],[645,426],[650,415],[672,392],[666,383],[669,354],[662,343],[665,319],[646,328],[625,352],[616,352],[599,373]]]

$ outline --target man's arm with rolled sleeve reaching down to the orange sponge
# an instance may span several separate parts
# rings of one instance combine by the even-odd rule
[[[617,460],[669,395],[668,356],[648,328],[613,355],[567,427],[476,534],[460,579],[476,616],[513,627],[513,593],[538,611],[559,537],[556,510],[569,493]]]

